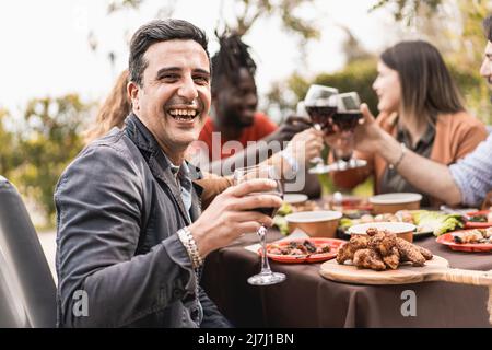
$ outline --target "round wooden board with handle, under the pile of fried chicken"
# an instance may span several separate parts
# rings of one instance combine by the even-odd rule
[[[440,256],[427,260],[423,267],[410,264],[401,265],[396,270],[374,271],[359,269],[352,265],[340,265],[335,259],[320,267],[323,277],[355,284],[407,284],[424,281],[447,281],[453,283],[492,285],[491,271],[475,271],[449,268],[449,262]]]

